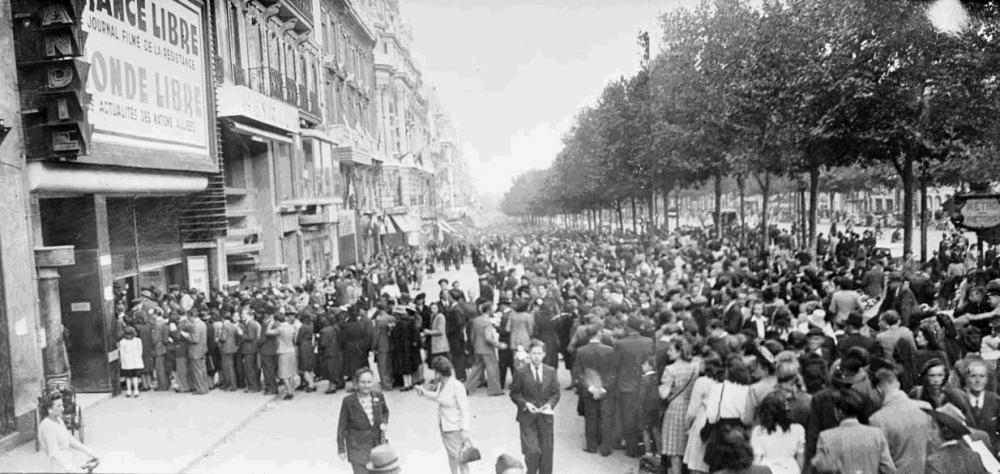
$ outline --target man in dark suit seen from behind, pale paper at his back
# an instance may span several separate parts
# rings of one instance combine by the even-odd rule
[[[577,349],[573,364],[573,381],[583,403],[584,433],[588,453],[610,456],[614,446],[614,389],[617,366],[615,350],[601,343],[600,330],[586,326],[589,342]]]

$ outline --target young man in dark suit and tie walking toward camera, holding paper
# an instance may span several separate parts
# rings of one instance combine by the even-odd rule
[[[553,415],[559,403],[556,369],[543,364],[545,343],[532,340],[528,345],[531,363],[514,373],[510,399],[517,405],[517,423],[521,428],[521,453],[527,474],[552,474],[554,445]]]

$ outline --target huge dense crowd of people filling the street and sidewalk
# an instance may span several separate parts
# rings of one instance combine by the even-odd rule
[[[483,386],[516,405],[529,474],[553,472],[564,390],[583,450],[648,471],[1000,471],[995,252],[980,261],[956,233],[921,263],[869,233],[831,232],[816,253],[770,235],[510,229],[298,286],[144,290],[119,307],[126,393],[290,399],[328,380],[351,391],[338,451],[356,473],[382,472],[395,389],[438,404],[451,472],[468,472]],[[479,288],[441,279],[429,303],[427,272],[466,254]]]

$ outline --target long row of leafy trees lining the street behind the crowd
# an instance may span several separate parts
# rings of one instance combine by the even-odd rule
[[[927,9],[709,0],[668,12],[659,53],[640,34],[638,72],[579,111],[551,167],[515,179],[502,209],[584,225],[609,211],[621,228],[623,207],[655,223],[657,197],[712,189],[719,232],[731,179],[741,202],[748,186],[760,194],[766,233],[775,186],[797,182],[815,252],[820,192],[898,183],[910,251],[919,188],[1000,176],[1000,7],[972,6],[950,30]]]

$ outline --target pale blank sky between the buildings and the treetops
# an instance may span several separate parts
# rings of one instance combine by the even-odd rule
[[[693,0],[400,0],[411,52],[455,123],[480,193],[548,167],[573,118],[639,67],[640,31]]]

